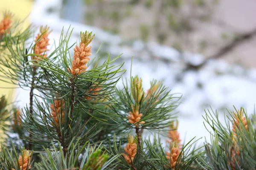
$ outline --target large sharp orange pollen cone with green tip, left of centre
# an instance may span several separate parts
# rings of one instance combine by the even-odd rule
[[[88,46],[90,42],[93,40],[95,35],[92,36],[92,32],[81,33],[81,42],[76,45],[74,48],[74,59],[72,61],[72,68],[69,71],[76,77],[76,74],[79,75],[86,71],[87,63],[90,60],[89,56],[92,55],[91,48],[92,46]]]

